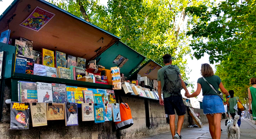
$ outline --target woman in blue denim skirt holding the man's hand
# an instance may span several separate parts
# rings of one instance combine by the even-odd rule
[[[209,130],[212,139],[220,139],[221,128],[220,120],[222,113],[225,113],[224,105],[221,98],[215,92],[220,88],[221,92],[229,96],[228,91],[224,88],[219,76],[214,75],[214,72],[209,64],[202,64],[201,75],[203,77],[197,80],[197,89],[193,94],[185,94],[187,98],[196,97],[203,93],[203,113],[206,115],[209,122]],[[214,90],[205,80],[213,86]]]

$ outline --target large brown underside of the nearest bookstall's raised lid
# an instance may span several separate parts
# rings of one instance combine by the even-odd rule
[[[28,5],[31,6],[30,11]],[[36,7],[54,13],[55,16],[39,31],[19,25],[26,20]],[[13,15],[16,16],[13,17]],[[117,42],[120,38],[78,18],[63,9],[44,0],[14,0],[0,15],[0,32],[11,30],[10,38],[23,37],[33,41],[33,50],[42,48],[61,51],[67,55],[86,58],[87,61],[96,57],[95,50],[102,47],[98,54]],[[103,41],[100,40],[104,38]],[[13,40],[15,41],[15,40]]]

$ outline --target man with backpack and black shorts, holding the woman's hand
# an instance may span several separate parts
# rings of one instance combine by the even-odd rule
[[[181,78],[181,72],[178,66],[172,65],[172,56],[166,54],[163,56],[165,66],[158,70],[158,94],[160,105],[165,106],[165,114],[170,117],[170,129],[173,139],[181,139],[181,129],[186,114],[186,106],[183,102],[181,90],[189,94],[186,84]],[[161,97],[163,91],[164,98]],[[175,111],[178,115],[178,128],[175,134]]]

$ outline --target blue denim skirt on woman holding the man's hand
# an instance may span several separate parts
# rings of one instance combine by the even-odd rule
[[[225,113],[224,105],[221,98],[217,95],[204,95],[203,96],[203,113],[205,115]]]

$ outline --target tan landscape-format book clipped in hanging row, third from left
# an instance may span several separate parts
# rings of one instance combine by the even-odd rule
[[[64,120],[65,104],[64,103],[52,103],[52,106],[47,106],[47,120]]]

